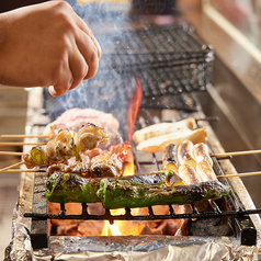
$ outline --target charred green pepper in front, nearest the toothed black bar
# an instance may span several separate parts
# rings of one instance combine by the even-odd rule
[[[123,180],[101,180],[98,195],[104,208],[145,207],[152,205],[193,204],[226,195],[229,189],[218,181],[198,185],[156,188],[132,185]]]

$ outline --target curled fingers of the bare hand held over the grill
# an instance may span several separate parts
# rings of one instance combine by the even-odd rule
[[[68,4],[63,4],[68,11]],[[80,84],[82,80],[92,78],[99,68],[101,57],[101,47],[91,30],[81,20],[75,11],[69,8],[70,25],[67,29],[68,42],[66,44],[68,59],[59,65],[57,75],[55,72],[54,86],[49,87],[49,93],[54,97],[65,94]],[[70,43],[70,44],[68,44]]]

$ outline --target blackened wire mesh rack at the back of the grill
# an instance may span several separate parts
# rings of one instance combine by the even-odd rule
[[[103,38],[98,36],[105,50],[100,68],[118,73],[134,72],[146,98],[205,91],[211,81],[214,52],[193,36],[190,26],[110,34],[110,45]]]

